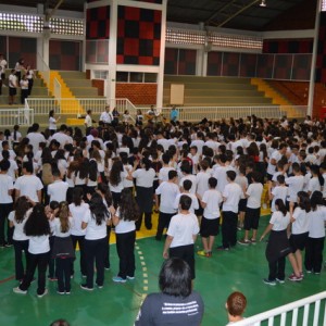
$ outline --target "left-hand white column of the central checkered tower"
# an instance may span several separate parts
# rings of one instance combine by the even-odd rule
[[[109,80],[106,83],[106,99],[115,99],[116,87],[116,40],[117,40],[117,0],[110,5],[110,39],[109,39]],[[113,108],[111,108],[113,110]]]

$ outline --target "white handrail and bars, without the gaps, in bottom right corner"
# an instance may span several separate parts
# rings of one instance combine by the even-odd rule
[[[317,325],[326,325],[326,291],[268,310],[266,312],[263,312],[261,314],[248,317],[246,319],[242,319],[240,322],[234,323],[235,326],[259,326],[261,325],[261,322],[273,321],[276,316],[281,316],[281,319],[286,322],[286,316],[288,312],[292,312],[292,321],[291,325],[300,325],[300,326],[317,326]],[[321,311],[321,302],[323,301],[324,304],[324,314],[323,310]],[[310,305],[312,303],[315,303],[314,309],[314,316],[313,316],[313,324],[309,324],[309,312],[310,312]],[[300,308],[303,308],[303,317],[302,321],[298,321],[298,311]],[[322,318],[322,321],[321,321]],[[284,323],[285,323],[284,322]],[[272,322],[273,325],[273,322]],[[285,324],[280,324],[285,325]],[[287,325],[290,325],[287,323]]]

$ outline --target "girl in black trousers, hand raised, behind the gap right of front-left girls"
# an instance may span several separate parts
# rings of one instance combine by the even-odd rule
[[[145,226],[147,229],[152,228],[152,209],[153,209],[153,183],[155,171],[151,167],[152,162],[143,158],[140,162],[140,168],[136,170],[139,161],[134,163],[134,172],[128,179],[136,179],[136,200],[139,206],[139,218],[136,222],[136,229],[139,230],[145,214]],[[135,171],[136,170],[136,171]]]

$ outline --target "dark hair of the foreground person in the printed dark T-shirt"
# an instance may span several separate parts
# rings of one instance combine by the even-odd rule
[[[166,260],[161,268],[159,286],[164,294],[186,298],[191,293],[191,269],[179,258]]]

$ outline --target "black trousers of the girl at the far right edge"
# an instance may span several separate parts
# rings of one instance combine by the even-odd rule
[[[306,271],[321,273],[325,238],[308,238],[305,246],[304,267]]]

